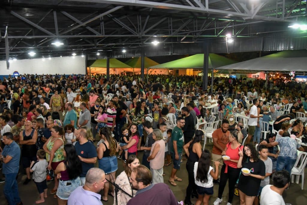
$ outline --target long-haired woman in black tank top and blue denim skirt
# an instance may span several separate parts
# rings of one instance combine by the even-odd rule
[[[114,182],[115,172],[117,170],[117,158],[116,153],[119,150],[119,145],[117,141],[113,139],[111,130],[107,127],[102,127],[99,130],[99,135],[104,140],[104,142],[100,143],[97,147],[97,157],[99,168],[103,169],[106,173],[106,179]],[[112,175],[112,176],[110,176]],[[104,184],[103,188],[103,201],[108,200],[108,191],[109,191],[109,183]]]

